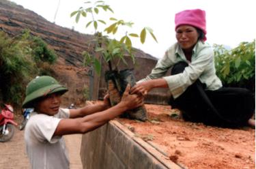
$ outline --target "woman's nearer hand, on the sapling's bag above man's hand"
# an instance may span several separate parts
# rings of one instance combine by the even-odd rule
[[[151,89],[152,89],[152,81],[148,80],[148,81],[140,82],[136,84],[134,87],[132,87],[130,93],[145,96]]]

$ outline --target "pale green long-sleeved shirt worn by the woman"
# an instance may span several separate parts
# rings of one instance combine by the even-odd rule
[[[167,70],[180,61],[188,63],[188,67],[185,68],[184,72],[165,76]],[[165,56],[158,60],[158,63],[151,74],[139,82],[162,77],[167,81],[174,98],[177,98],[184,93],[184,91],[186,91],[186,89],[198,78],[202,83],[206,84],[207,90],[214,91],[222,87],[221,80],[216,76],[212,47],[201,41],[198,41],[193,48],[191,62],[186,60],[184,52],[179,44],[173,44],[173,46],[165,52]]]

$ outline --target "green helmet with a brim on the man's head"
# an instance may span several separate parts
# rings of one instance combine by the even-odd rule
[[[66,93],[68,89],[63,87],[51,76],[40,76],[34,78],[27,84],[26,97],[23,102],[23,108],[33,108],[32,102],[39,97],[44,97],[51,93]]]

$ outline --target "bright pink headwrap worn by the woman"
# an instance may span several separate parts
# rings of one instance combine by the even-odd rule
[[[175,14],[175,30],[180,25],[191,25],[201,29],[206,35],[206,20],[204,10],[184,10]],[[203,41],[206,40],[206,36],[203,37]]]

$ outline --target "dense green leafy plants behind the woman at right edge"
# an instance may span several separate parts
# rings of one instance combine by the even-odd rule
[[[216,74],[225,86],[247,86],[255,80],[255,40],[227,50],[214,45]]]

